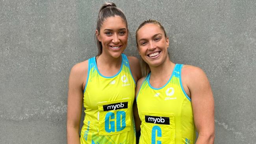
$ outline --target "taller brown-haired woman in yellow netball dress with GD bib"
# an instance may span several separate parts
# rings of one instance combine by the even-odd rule
[[[139,61],[122,54],[128,25],[114,3],[105,3],[96,26],[98,55],[76,64],[70,72],[67,107],[68,144],[134,144],[133,102],[141,78]],[[85,118],[79,137],[79,124]]]

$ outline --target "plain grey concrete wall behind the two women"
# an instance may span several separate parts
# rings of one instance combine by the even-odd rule
[[[96,55],[102,0],[0,0],[0,143],[66,143],[70,68]],[[201,67],[215,98],[215,144],[256,141],[255,0],[113,0],[139,57],[138,25],[159,20],[171,60]]]

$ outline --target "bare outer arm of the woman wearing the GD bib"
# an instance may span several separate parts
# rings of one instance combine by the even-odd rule
[[[80,144],[79,129],[83,103],[83,85],[87,77],[87,61],[76,64],[69,76],[67,105],[67,143]]]

